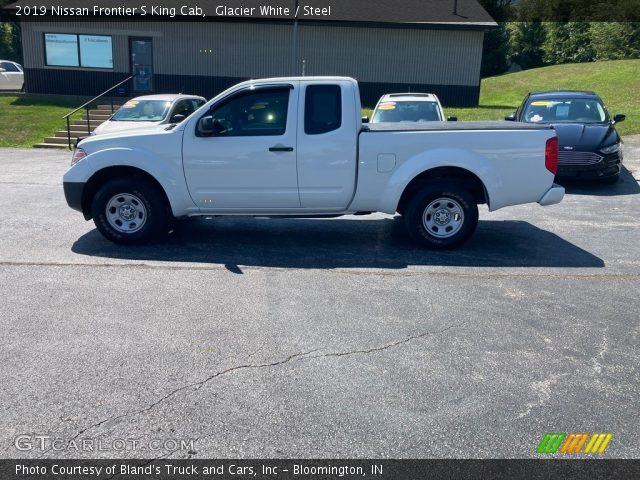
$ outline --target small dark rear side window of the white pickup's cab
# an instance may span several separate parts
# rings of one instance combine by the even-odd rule
[[[310,85],[304,102],[304,133],[320,135],[342,125],[342,93],[339,85]]]

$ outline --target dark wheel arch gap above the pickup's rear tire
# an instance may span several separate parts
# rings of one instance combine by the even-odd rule
[[[398,201],[397,211],[403,213],[411,196],[418,191],[424,184],[435,180],[451,180],[462,186],[471,193],[477,204],[489,204],[489,193],[484,182],[475,173],[462,167],[435,167],[425,170],[416,175],[405,187],[400,200]]]

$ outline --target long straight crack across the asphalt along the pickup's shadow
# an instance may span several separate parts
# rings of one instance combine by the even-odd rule
[[[0,267],[79,267],[79,268],[125,268],[131,270],[169,270],[169,271],[222,271],[229,270],[225,265],[153,265],[148,263],[74,263],[74,262],[13,262],[0,260]],[[306,272],[309,270],[320,270],[327,273],[341,275],[363,275],[363,276],[390,276],[390,277],[422,277],[441,276],[453,278],[553,278],[553,279],[576,279],[576,280],[638,280],[640,273],[528,273],[528,272],[459,272],[459,271],[402,271],[388,272],[385,267],[365,267],[367,271],[351,270],[345,268],[281,268],[281,267],[253,267],[243,265],[243,271],[269,271],[269,272]],[[482,267],[463,266],[461,268],[512,268],[512,267]],[[529,268],[529,267],[515,267]],[[371,271],[373,269],[373,271]]]

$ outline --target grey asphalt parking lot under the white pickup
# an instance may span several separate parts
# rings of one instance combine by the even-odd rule
[[[603,455],[638,458],[626,141],[617,185],[483,208],[445,253],[384,215],[196,219],[118,247],[66,206],[67,152],[0,149],[0,456],[520,458],[551,431],[612,432]],[[108,448],[65,446],[82,439]]]

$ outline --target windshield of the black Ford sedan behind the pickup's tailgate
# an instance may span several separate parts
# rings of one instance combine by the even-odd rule
[[[523,121],[530,123],[603,123],[609,121],[600,101],[584,98],[534,100],[527,105]]]

